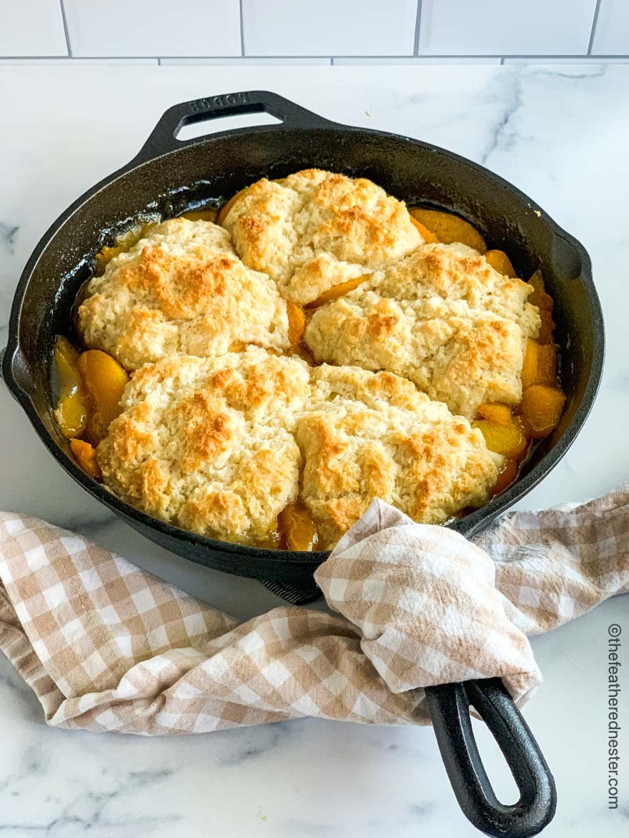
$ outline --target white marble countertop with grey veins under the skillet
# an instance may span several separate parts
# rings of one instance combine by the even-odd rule
[[[584,242],[606,315],[603,385],[569,454],[522,506],[585,499],[626,478],[626,66],[0,67],[0,344],[23,264],[71,200],[132,158],[166,107],[260,88],[339,122],[419,137],[480,161]],[[2,385],[0,423],[0,508],[79,530],[239,617],[279,603],[257,582],[179,559],[118,521],[62,472]],[[557,782],[549,838],[627,834],[629,765],[621,809],[606,809],[612,622],[629,644],[629,597],[533,640],[545,684],[525,715]],[[629,730],[629,701],[624,706]],[[512,781],[477,728],[496,792],[508,802]],[[37,701],[2,659],[0,742],[2,835],[478,834],[455,803],[430,728],[311,719],[176,739],[65,732],[45,727]],[[625,744],[629,759],[629,733]]]

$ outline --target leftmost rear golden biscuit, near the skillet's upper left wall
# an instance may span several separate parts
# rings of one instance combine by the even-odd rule
[[[109,262],[78,312],[86,345],[127,370],[175,355],[226,353],[233,344],[288,349],[286,303],[268,276],[236,256],[226,230],[173,219]]]

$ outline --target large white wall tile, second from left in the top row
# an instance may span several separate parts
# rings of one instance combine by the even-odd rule
[[[240,55],[239,0],[64,0],[73,55]]]

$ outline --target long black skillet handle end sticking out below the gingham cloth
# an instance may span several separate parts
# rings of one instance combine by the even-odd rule
[[[553,775],[538,743],[499,678],[426,688],[439,751],[465,817],[486,835],[528,838],[553,820],[557,803]],[[520,792],[515,804],[494,794],[476,747],[473,706],[511,769]]]

